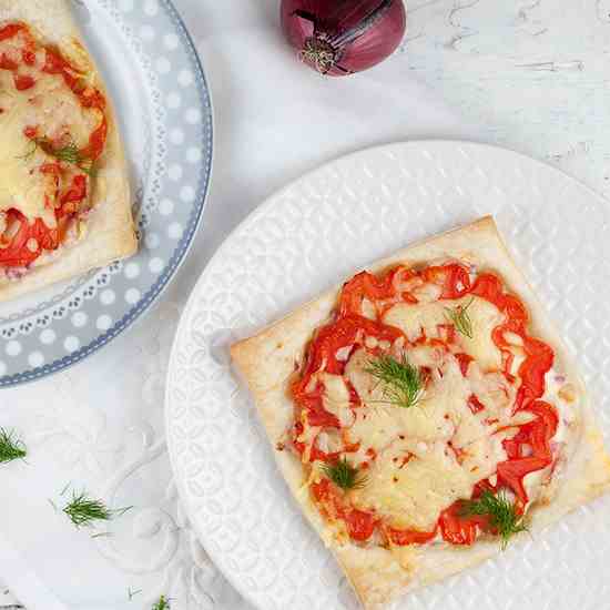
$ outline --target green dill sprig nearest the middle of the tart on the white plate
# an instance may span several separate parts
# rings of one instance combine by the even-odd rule
[[[379,356],[369,360],[365,372],[379,379],[383,384],[384,401],[396,407],[414,407],[424,394],[424,378],[405,356],[400,362],[392,356]]]

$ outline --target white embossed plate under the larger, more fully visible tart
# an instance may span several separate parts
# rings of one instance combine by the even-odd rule
[[[577,352],[610,431],[608,204],[509,151],[411,142],[357,153],[256,210],[202,275],[175,340],[166,395],[170,453],[202,541],[262,610],[354,606],[331,555],[276,471],[227,345],[414,241],[492,213]],[[400,608],[608,607],[608,499],[536,540],[410,596]]]

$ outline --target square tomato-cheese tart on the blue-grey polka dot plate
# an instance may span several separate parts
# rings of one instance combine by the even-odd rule
[[[0,301],[138,248],[123,145],[68,0],[0,0]]]

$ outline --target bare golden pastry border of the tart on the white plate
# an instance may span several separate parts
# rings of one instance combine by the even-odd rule
[[[384,258],[369,268],[379,272],[398,263],[424,264],[436,258],[459,258],[498,273],[511,292],[519,295],[531,316],[535,336],[548,342],[556,352],[568,379],[582,396],[581,436],[557,495],[546,506],[532,507],[530,533],[557,522],[563,515],[606,492],[610,488],[610,457],[588,406],[587,390],[559,333],[542,304],[520,272],[491,216],[416,243]],[[302,362],[314,329],[328,319],[339,288],[328,291],[303,305],[257,335],[231,347],[232,359],[254,396],[257,411],[272,446],[285,433],[293,415],[287,380]],[[479,540],[472,547],[409,547],[400,552],[400,567],[388,550],[362,548],[350,541],[339,543],[332,528],[319,516],[303,488],[303,470],[294,455],[274,449],[282,474],[304,515],[331,548],[367,610],[383,608],[396,597],[431,584],[474,567],[499,552],[496,541]],[[521,538],[527,535],[521,535]]]

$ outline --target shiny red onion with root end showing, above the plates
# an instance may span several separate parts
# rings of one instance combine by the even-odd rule
[[[343,77],[384,61],[400,44],[403,0],[283,0],[282,28],[301,59]]]

